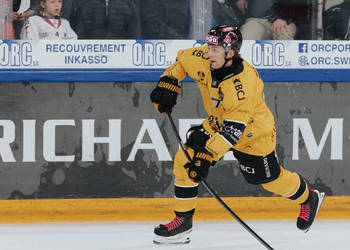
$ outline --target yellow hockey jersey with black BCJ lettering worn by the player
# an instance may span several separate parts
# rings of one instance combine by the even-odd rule
[[[230,149],[270,154],[276,147],[276,129],[259,73],[240,58],[232,67],[211,71],[207,52],[207,46],[179,50],[177,61],[162,75],[178,82],[188,75],[197,83],[208,113],[202,125],[212,135],[206,149],[216,160]]]

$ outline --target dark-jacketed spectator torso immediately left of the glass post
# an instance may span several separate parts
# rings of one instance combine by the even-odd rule
[[[190,1],[139,0],[142,39],[188,39]]]

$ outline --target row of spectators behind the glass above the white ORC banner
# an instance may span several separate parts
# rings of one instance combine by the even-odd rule
[[[39,37],[33,38],[26,33],[35,25],[38,27],[34,32],[47,25],[36,24],[32,17],[45,18],[44,4],[49,1],[61,2],[59,17],[49,18],[67,20],[67,29],[71,29],[64,31],[64,36],[56,32],[57,39],[192,38],[191,0],[13,0],[12,27],[6,20],[2,20],[0,27],[0,30],[6,30],[7,36],[3,39]],[[314,28],[311,25],[312,13],[317,11],[311,2],[312,0],[212,0],[212,24],[234,24],[241,28],[244,39],[309,40],[312,39],[311,32]],[[25,11],[24,5],[28,5]],[[19,11],[21,8],[22,11]],[[3,9],[2,12],[4,11]],[[0,16],[1,14],[4,15],[0,13]],[[350,0],[324,0],[322,16],[323,39],[349,39]],[[60,24],[61,21],[57,25]],[[53,24],[52,32],[58,26]],[[55,36],[47,35],[46,39],[49,38],[54,39]],[[40,36],[39,39],[45,38]]]

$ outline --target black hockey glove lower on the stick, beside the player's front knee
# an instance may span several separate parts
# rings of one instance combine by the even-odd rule
[[[188,177],[195,182],[200,182],[205,179],[209,173],[209,167],[213,163],[213,155],[207,150],[195,152],[191,162],[185,164]]]

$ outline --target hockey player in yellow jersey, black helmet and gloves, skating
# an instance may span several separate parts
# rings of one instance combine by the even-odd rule
[[[210,29],[202,47],[180,50],[177,61],[161,75],[150,98],[159,113],[171,112],[186,75],[195,79],[207,119],[187,133],[188,161],[182,149],[174,159],[175,215],[154,229],[155,243],[188,243],[198,183],[210,166],[229,150],[246,181],[301,205],[297,227],[307,231],[324,193],[309,189],[302,176],[281,166],[275,154],[274,117],[265,103],[259,73],[240,57],[240,30],[221,25]]]

